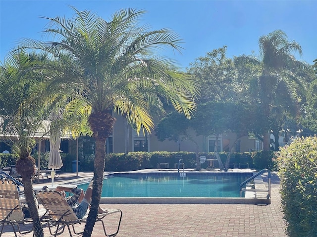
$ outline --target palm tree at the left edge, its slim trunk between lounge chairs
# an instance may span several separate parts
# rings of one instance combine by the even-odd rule
[[[0,68],[0,94],[3,105],[1,116],[2,133],[12,140],[12,150],[18,154],[17,172],[22,177],[24,193],[34,224],[34,234],[43,237],[43,227],[39,220],[34,200],[32,179],[35,174],[35,161],[30,156],[36,144],[35,135],[39,130],[45,134],[42,120],[47,116],[35,95],[41,90],[42,76],[32,70],[47,60],[45,54],[27,54],[25,51],[12,52]]]

